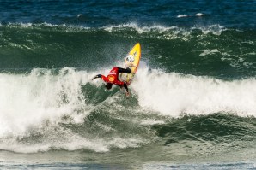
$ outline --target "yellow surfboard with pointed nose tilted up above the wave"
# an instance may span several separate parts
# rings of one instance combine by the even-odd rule
[[[125,67],[130,67],[131,73],[120,73],[120,80],[125,81],[127,85],[131,84],[132,79],[137,72],[137,67],[141,58],[140,44],[135,44],[128,55],[125,57]]]

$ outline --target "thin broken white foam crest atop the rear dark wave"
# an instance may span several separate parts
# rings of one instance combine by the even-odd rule
[[[188,17],[189,15],[178,15],[177,17]],[[64,32],[91,32],[91,31],[107,31],[107,32],[122,32],[125,29],[132,29],[140,34],[153,32],[150,36],[155,36],[155,38],[159,39],[176,39],[182,38],[183,40],[187,40],[187,37],[191,35],[194,29],[201,30],[204,34],[213,33],[215,35],[220,35],[222,31],[226,30],[223,26],[220,25],[210,25],[210,26],[192,26],[189,28],[186,27],[178,27],[178,26],[162,26],[157,24],[152,24],[149,26],[139,25],[136,22],[129,22],[125,24],[119,25],[109,25],[102,27],[88,27],[88,26],[73,26],[73,25],[54,25],[50,23],[40,23],[40,24],[32,24],[32,23],[9,23],[10,27],[22,27],[22,28],[33,28],[40,29],[40,26],[48,26],[51,28],[59,28],[62,29],[58,31]]]

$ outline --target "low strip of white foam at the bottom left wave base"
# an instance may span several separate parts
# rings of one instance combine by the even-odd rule
[[[52,129],[54,132],[54,129]],[[16,138],[5,139],[0,143],[0,149],[14,151],[18,153],[37,153],[46,152],[49,149],[89,149],[95,152],[107,152],[109,149],[101,138],[87,139],[82,138],[67,129],[59,130],[58,133],[51,134],[48,132],[39,143],[22,143]]]

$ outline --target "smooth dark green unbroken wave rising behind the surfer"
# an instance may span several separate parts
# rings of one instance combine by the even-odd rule
[[[140,42],[150,67],[223,79],[255,74],[256,34],[250,30],[132,23],[100,28],[10,24],[0,29],[2,69],[104,67],[122,60],[125,47]]]

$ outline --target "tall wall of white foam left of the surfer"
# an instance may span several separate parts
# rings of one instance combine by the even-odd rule
[[[85,115],[90,108],[80,99],[79,83],[88,81],[84,74],[70,68],[61,70],[58,76],[39,69],[27,75],[1,73],[0,138],[9,132],[23,134],[29,126],[39,126],[46,119],[55,121],[64,114],[81,121],[80,114]]]

